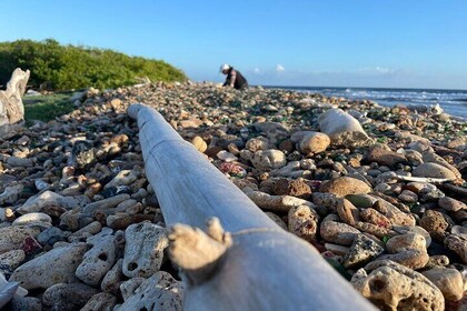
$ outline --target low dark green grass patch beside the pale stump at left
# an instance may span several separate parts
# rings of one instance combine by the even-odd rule
[[[56,117],[69,113],[76,108],[70,101],[71,93],[24,97],[24,120],[50,121]]]

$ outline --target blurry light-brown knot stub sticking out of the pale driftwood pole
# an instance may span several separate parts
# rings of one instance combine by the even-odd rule
[[[208,280],[219,267],[231,235],[225,232],[218,218],[209,218],[206,232],[186,224],[175,224],[169,231],[169,257],[180,267],[191,285]]]

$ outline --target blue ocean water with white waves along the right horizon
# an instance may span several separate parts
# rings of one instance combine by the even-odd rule
[[[424,89],[374,89],[374,88],[316,88],[316,87],[275,87],[310,93],[321,93],[326,97],[342,97],[350,100],[368,99],[381,106],[394,107],[436,104],[446,113],[467,120],[467,90],[424,90]]]

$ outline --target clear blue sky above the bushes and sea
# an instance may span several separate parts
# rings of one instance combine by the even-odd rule
[[[467,89],[467,1],[2,0],[0,41],[162,59],[196,81]]]

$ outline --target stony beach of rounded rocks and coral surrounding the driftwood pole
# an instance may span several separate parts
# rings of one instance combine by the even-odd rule
[[[127,114],[137,102],[377,308],[467,310],[465,120],[190,81],[90,88],[72,102],[69,114],[0,137],[4,310],[182,310]]]

